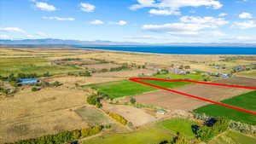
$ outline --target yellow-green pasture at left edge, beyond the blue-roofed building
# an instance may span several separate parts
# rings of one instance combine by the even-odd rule
[[[50,72],[55,74],[77,70],[79,68],[74,66],[51,66],[48,60],[41,58],[6,58],[0,60],[0,75],[2,76],[20,72],[37,74]]]

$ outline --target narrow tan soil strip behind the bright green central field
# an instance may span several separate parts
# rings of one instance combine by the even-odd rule
[[[137,70],[128,70],[128,71],[119,71],[119,72],[101,72],[93,73],[95,77],[118,77],[118,78],[131,78],[139,75],[152,75],[155,72],[148,69],[137,69]]]

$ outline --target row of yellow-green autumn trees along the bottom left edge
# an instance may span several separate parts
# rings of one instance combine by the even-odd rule
[[[95,126],[90,128],[85,128],[82,130],[72,130],[72,131],[63,131],[55,135],[44,135],[35,139],[28,139],[24,141],[17,141],[14,143],[6,144],[62,144],[66,142],[76,141],[80,138],[84,138],[90,135],[96,135],[100,133],[103,129],[103,126]]]

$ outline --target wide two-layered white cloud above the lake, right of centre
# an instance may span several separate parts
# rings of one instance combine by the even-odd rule
[[[149,32],[164,32],[176,37],[223,37],[225,34],[216,29],[229,23],[223,18],[210,16],[182,16],[179,20],[181,22],[144,25],[142,28]]]

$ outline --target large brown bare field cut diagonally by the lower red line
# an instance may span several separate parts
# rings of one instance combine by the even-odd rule
[[[205,84],[191,84],[175,90],[212,101],[222,101],[250,91],[250,89],[237,89]],[[142,95],[136,95],[135,98],[138,103],[164,107],[171,110],[181,109],[191,111],[197,107],[209,104],[207,101],[196,100],[195,98],[179,95],[166,90],[157,90]]]

